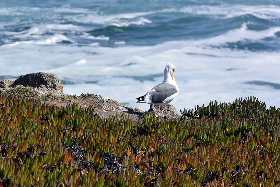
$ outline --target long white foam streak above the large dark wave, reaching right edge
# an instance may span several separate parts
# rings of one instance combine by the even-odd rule
[[[158,11],[148,11],[148,12],[134,12],[134,13],[123,13],[106,15],[100,12],[86,12],[79,16],[69,15],[68,19],[76,22],[83,23],[97,23],[97,24],[107,24],[116,26],[129,26],[130,24],[140,25],[151,23],[150,20],[144,18],[144,16],[155,14],[155,13],[172,13],[172,12],[183,12],[193,15],[212,15],[221,19],[232,18],[244,15],[254,15],[262,19],[278,19],[280,18],[280,7],[277,5],[229,5],[223,3],[220,6],[188,6],[182,7],[180,9],[168,8]],[[138,18],[134,21],[133,19]],[[140,19],[139,19],[140,18]],[[129,23],[131,22],[131,23]]]

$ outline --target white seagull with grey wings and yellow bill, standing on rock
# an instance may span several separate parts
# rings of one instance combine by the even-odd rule
[[[176,84],[173,74],[175,73],[175,66],[167,64],[164,68],[163,82],[154,86],[145,95],[136,98],[136,103],[148,103],[161,106],[161,114],[163,117],[162,105],[170,103],[179,92],[179,87]]]

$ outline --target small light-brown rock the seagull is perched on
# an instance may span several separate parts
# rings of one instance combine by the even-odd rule
[[[148,112],[152,112],[153,114],[157,115],[157,116],[161,116],[161,106],[159,105],[150,105],[150,109],[148,110]],[[171,105],[162,105],[162,109],[163,109],[163,115],[168,116],[168,117],[172,117],[172,118],[176,118],[176,117],[180,117],[180,115],[177,113],[176,108]]]

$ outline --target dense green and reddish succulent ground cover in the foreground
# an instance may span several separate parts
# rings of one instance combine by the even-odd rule
[[[0,95],[0,186],[279,186],[280,109],[255,97],[101,119]]]

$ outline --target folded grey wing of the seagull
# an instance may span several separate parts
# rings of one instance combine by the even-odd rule
[[[152,103],[162,103],[164,99],[173,95],[177,92],[177,89],[172,84],[161,83],[153,87],[151,90],[155,90],[154,92],[149,91],[148,93],[151,96]]]

